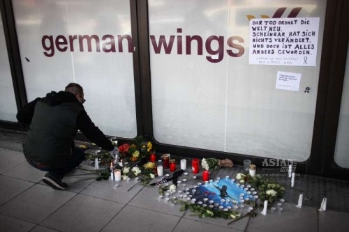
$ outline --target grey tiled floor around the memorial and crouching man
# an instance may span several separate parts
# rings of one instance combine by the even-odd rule
[[[347,231],[349,184],[340,180],[305,176],[287,187],[283,212],[230,220],[199,218],[158,200],[156,187],[96,181],[96,175],[77,169],[64,178],[66,191],[53,190],[41,180],[43,171],[24,160],[25,133],[0,129],[0,231]],[[93,169],[93,167],[90,167]],[[190,170],[188,170],[190,171]],[[241,167],[221,169],[211,177],[235,176]],[[265,170],[260,170],[265,171]],[[195,183],[188,175],[188,185]],[[198,175],[200,176],[200,175]],[[299,193],[302,208],[296,208]],[[319,212],[323,197],[327,211]]]

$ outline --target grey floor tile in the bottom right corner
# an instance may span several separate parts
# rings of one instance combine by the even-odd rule
[[[327,210],[319,212],[319,232],[348,231],[349,213]]]

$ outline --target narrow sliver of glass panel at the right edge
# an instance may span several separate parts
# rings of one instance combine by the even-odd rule
[[[349,169],[349,49],[347,52],[346,72],[344,75],[341,111],[334,149],[334,162],[339,167]]]

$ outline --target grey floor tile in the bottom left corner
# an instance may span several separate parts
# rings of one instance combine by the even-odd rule
[[[13,231],[30,231],[34,228],[35,224],[24,222],[20,219],[15,219],[13,217],[6,217],[0,215],[0,231],[1,232],[13,232]]]

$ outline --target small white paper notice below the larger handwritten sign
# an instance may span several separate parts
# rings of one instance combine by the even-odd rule
[[[299,83],[301,82],[300,73],[292,72],[278,72],[276,77],[275,88],[289,90],[289,91],[299,91]]]

